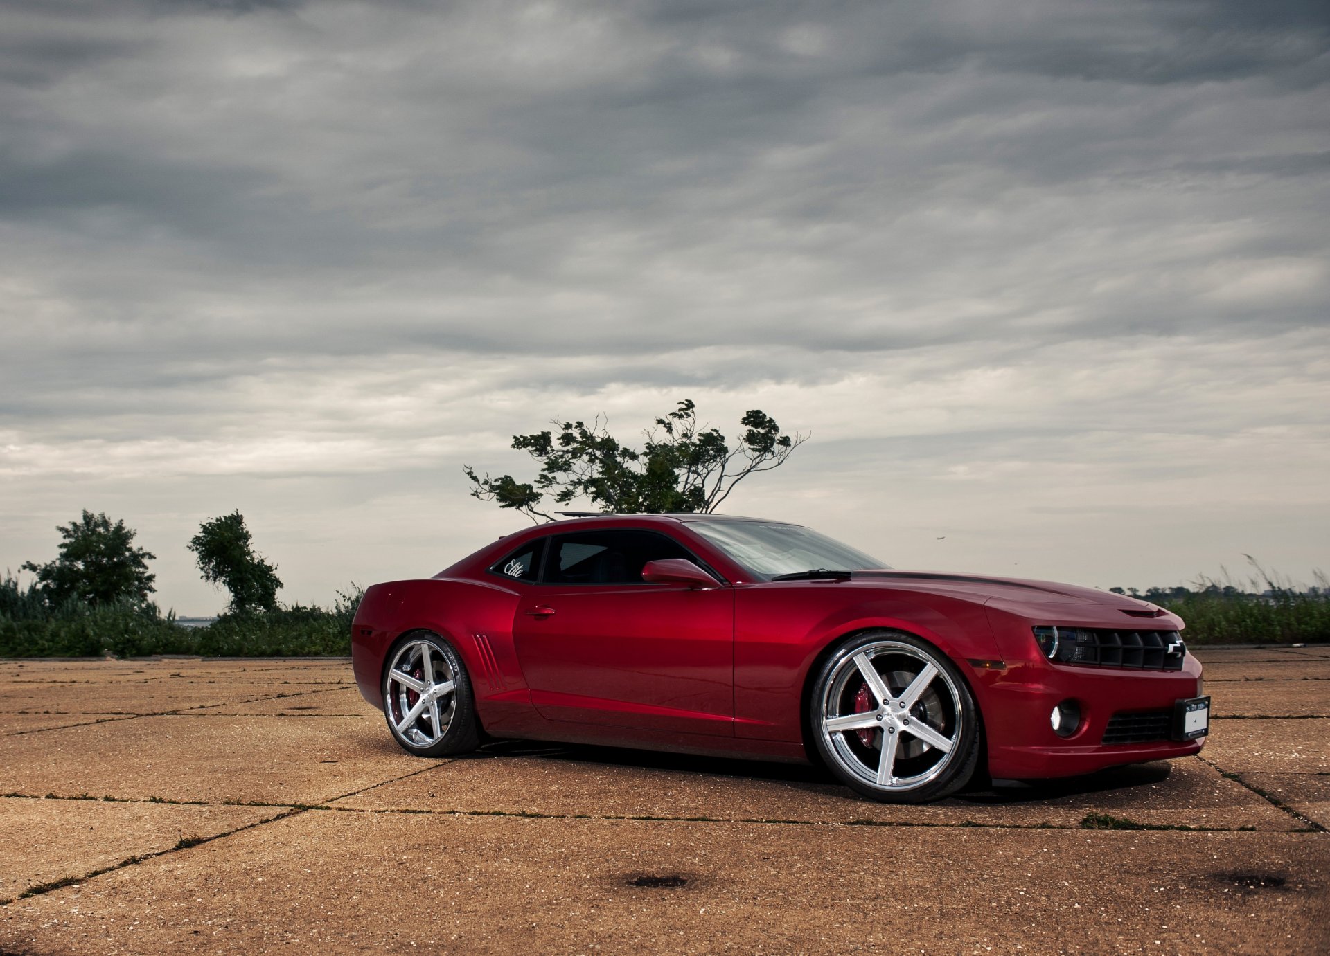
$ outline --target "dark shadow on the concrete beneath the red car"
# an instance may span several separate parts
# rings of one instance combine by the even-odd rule
[[[504,757],[528,757],[567,763],[641,767],[644,770],[668,770],[706,777],[770,780],[785,784],[791,790],[807,790],[818,794],[850,794],[825,767],[807,763],[735,761],[732,758],[696,757],[653,750],[547,743],[544,741],[495,741],[460,759],[495,759]],[[1169,762],[1156,761],[1153,763],[1109,767],[1081,777],[1063,777],[1048,780],[1003,780],[994,784],[987,779],[982,779],[975,780],[963,792],[940,800],[939,804],[1019,806],[1071,796],[1107,794],[1161,783],[1168,779],[1169,773]]]

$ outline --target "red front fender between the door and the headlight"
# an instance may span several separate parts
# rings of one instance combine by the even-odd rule
[[[972,602],[851,581],[735,588],[735,735],[802,741],[809,669],[830,644],[870,628],[920,637],[956,661],[962,673],[970,658],[999,657],[984,610]]]

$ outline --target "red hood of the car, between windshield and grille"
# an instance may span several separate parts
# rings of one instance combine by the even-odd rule
[[[1136,618],[1142,624],[1150,620],[1169,617],[1162,608],[1109,590],[1080,588],[1075,584],[1053,581],[1029,581],[1017,577],[988,577],[983,574],[955,574],[934,570],[857,570],[854,581],[875,582],[891,588],[910,588],[935,594],[963,597],[982,604],[1031,605],[1057,604],[1081,605],[1084,610],[1109,610],[1124,616],[1123,622]],[[1116,614],[1115,614],[1116,617]]]

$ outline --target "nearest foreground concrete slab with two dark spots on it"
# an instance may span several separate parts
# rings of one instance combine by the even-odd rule
[[[314,862],[314,846],[331,851]],[[310,811],[11,904],[0,944],[1319,953],[1326,850],[1319,834]]]

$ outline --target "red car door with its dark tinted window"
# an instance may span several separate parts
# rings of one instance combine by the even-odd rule
[[[646,561],[693,556],[650,531],[556,535],[525,589],[513,646],[551,721],[734,735],[734,592],[646,584]]]

